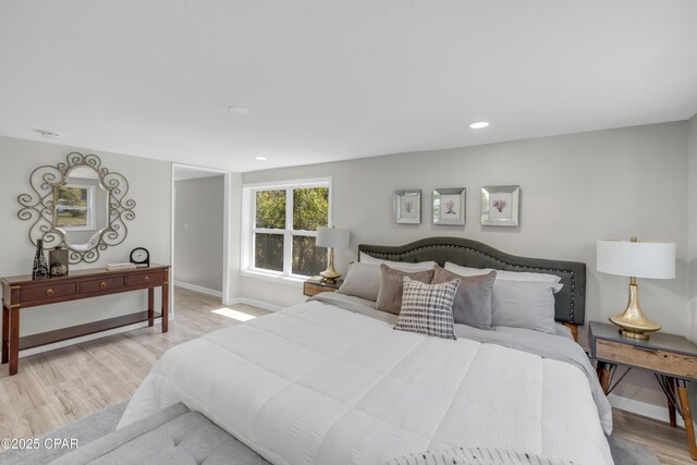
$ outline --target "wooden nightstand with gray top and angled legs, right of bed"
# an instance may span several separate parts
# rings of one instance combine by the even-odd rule
[[[675,409],[685,420],[689,455],[697,460],[695,428],[689,407],[687,381],[697,381],[697,345],[682,335],[652,332],[650,339],[625,338],[614,325],[590,321],[591,356],[598,360],[598,378],[609,394],[632,368],[653,372],[668,399],[671,426],[675,428]],[[612,383],[617,365],[626,370]]]

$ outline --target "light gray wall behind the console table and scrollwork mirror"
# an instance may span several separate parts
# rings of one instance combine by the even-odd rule
[[[137,246],[150,252],[151,261],[169,264],[170,254],[170,163],[147,158],[131,157],[56,144],[0,137],[0,198],[4,208],[0,212],[2,228],[2,260],[0,276],[28,274],[35,247],[27,233],[29,221],[17,218],[17,196],[30,192],[29,174],[42,164],[56,166],[65,161],[70,151],[95,154],[110,171],[123,174],[129,181],[127,197],[136,201],[134,221],[126,221],[129,234],[119,246],[109,247],[91,265],[71,265],[71,270],[105,267],[107,264],[129,261],[129,253]],[[156,292],[159,296],[159,292]],[[158,297],[159,302],[159,297]],[[159,305],[159,304],[156,304]],[[21,335],[100,320],[143,310],[147,306],[144,292],[95,297],[65,304],[27,308],[21,311]]]

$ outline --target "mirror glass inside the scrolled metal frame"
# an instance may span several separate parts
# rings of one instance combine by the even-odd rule
[[[91,167],[75,167],[54,187],[53,228],[75,252],[97,246],[109,223],[109,192]]]

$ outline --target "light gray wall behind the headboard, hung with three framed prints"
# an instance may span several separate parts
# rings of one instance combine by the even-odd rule
[[[641,305],[665,331],[685,334],[688,261],[688,124],[674,122],[478,147],[402,154],[244,174],[244,183],[332,176],[333,222],[351,230],[351,249],[338,250],[344,270],[358,244],[404,244],[454,235],[506,253],[584,261],[588,266],[586,320],[606,321],[626,305],[628,279],[596,271],[598,238],[675,241],[674,280],[640,281]],[[481,227],[482,185],[522,187],[521,227]],[[465,227],[431,224],[437,187],[466,187]],[[420,225],[398,225],[392,193],[423,189]],[[303,302],[299,284],[243,277],[243,296],[274,305]],[[663,405],[651,376],[631,374],[615,392]]]

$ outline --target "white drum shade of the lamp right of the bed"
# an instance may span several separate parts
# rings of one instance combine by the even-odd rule
[[[623,277],[675,278],[675,243],[598,241],[598,271]]]

